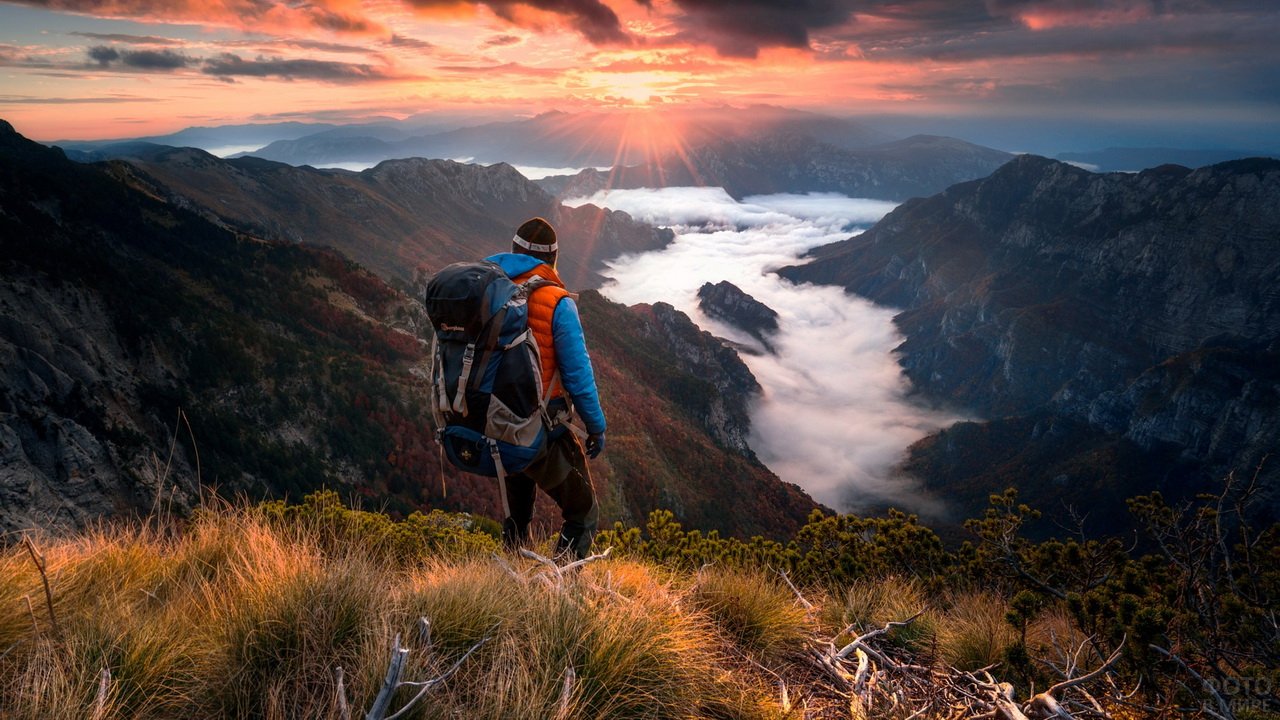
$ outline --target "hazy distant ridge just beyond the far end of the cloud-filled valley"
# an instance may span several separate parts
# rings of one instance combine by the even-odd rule
[[[557,197],[584,197],[607,188],[712,186],[741,200],[773,192],[840,192],[851,197],[905,200],[980,178],[1012,155],[960,140],[914,136],[884,145],[841,149],[808,135],[722,140],[659,161],[600,172],[586,169],[539,184]]]

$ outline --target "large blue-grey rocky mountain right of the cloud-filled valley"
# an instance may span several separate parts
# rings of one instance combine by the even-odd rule
[[[782,274],[904,307],[901,361],[933,397],[1158,454],[1148,489],[1170,462],[1204,480],[1280,446],[1280,161],[1100,176],[1021,156]]]

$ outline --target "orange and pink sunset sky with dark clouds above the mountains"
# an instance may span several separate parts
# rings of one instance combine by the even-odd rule
[[[1265,146],[1277,36],[1275,0],[0,1],[0,118],[56,140],[763,102]]]

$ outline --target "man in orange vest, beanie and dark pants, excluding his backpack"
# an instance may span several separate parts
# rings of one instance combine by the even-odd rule
[[[558,255],[556,229],[543,218],[532,218],[516,231],[511,252],[486,258],[517,283],[534,277],[549,281],[529,296],[529,328],[541,355],[543,387],[550,387],[548,414],[554,420],[576,411],[588,433],[584,452],[572,432],[576,428],[553,424],[543,456],[522,473],[507,478],[511,516],[502,523],[502,539],[507,547],[529,539],[535,488],[540,487],[556,501],[564,519],[556,542],[557,555],[571,551],[577,557],[585,557],[599,521],[586,456],[594,459],[604,450],[604,410],[600,409],[575,296],[564,290],[556,273]]]

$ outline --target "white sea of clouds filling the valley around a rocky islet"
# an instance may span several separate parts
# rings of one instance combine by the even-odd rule
[[[602,288],[609,299],[669,302],[703,328],[755,347],[698,309],[698,288],[730,281],[778,313],[777,355],[742,355],[764,387],[751,409],[751,447],[765,465],[840,510],[892,503],[943,511],[893,471],[909,445],[957,419],[906,400],[909,383],[893,356],[902,341],[896,311],[772,273],[801,261],[806,250],[858,234],[893,202],[832,193],[739,202],[721,188],[672,187],[605,191],[568,204],[585,202],[676,231],[663,250],[609,263]]]

